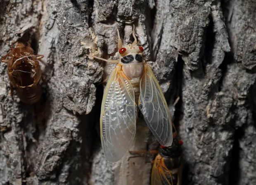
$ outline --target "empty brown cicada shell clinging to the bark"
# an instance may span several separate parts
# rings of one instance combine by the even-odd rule
[[[21,101],[27,104],[38,102],[42,94],[39,84],[41,68],[38,59],[43,58],[43,55],[34,55],[33,52],[29,44],[25,46],[20,42],[14,42],[9,53],[1,60],[7,63],[11,95],[14,86]]]

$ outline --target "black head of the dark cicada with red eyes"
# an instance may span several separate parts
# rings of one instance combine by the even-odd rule
[[[178,140],[177,137],[173,139],[173,143],[171,146],[161,146],[160,148],[160,155],[163,157],[179,157],[182,153],[181,145],[183,142]]]

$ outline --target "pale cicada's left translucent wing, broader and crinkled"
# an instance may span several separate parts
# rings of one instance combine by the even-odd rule
[[[137,105],[133,87],[117,65],[107,82],[100,116],[101,143],[109,162],[119,161],[136,132]]]

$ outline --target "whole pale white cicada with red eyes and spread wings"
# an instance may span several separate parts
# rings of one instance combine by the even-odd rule
[[[117,64],[107,81],[100,116],[101,143],[109,162],[119,161],[129,150],[136,132],[138,108],[162,146],[171,146],[173,142],[171,115],[164,94],[151,67],[142,58],[143,48],[137,45],[134,26],[134,42],[126,46],[116,29],[119,60],[92,55]]]

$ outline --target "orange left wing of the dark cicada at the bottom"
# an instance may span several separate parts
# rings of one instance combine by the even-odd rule
[[[171,173],[161,163],[162,157],[157,155],[152,167],[151,185],[173,185]],[[169,177],[169,180],[166,175]]]

